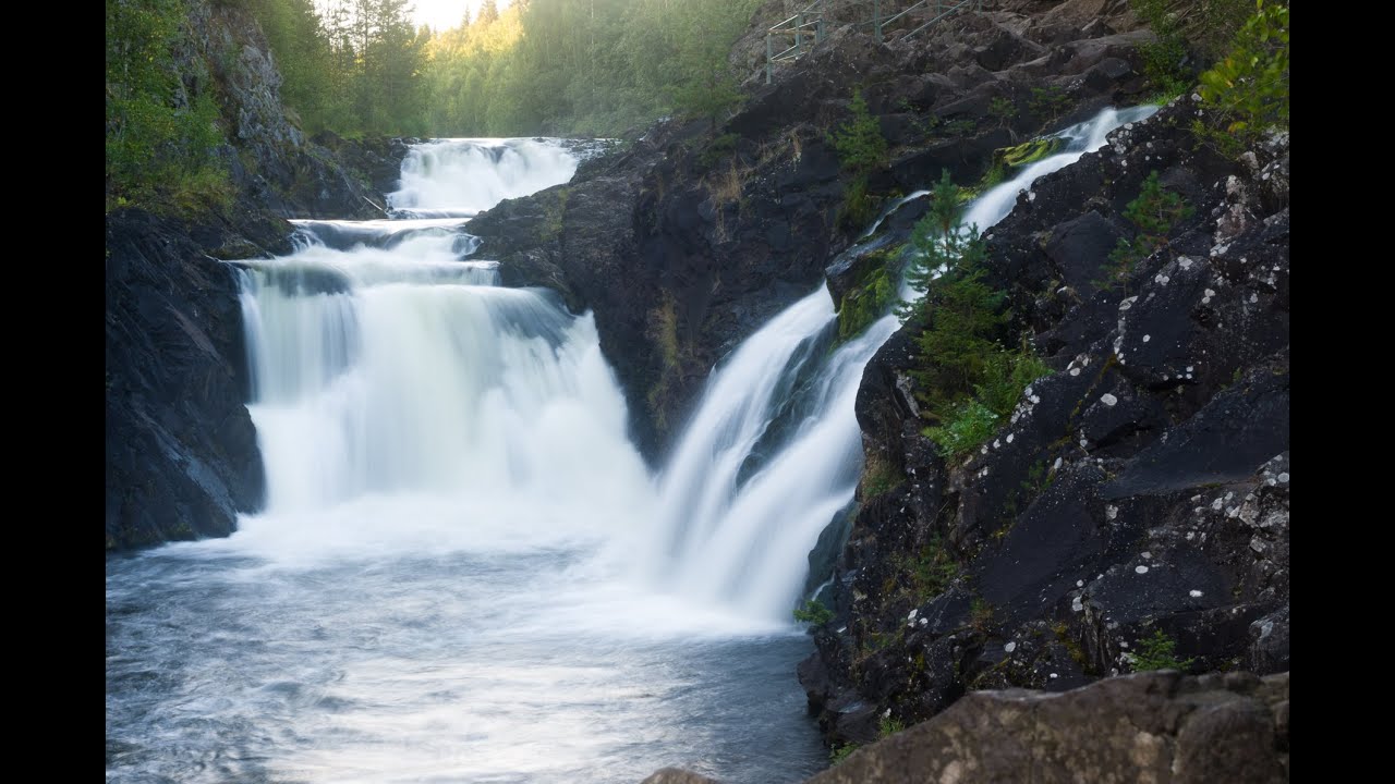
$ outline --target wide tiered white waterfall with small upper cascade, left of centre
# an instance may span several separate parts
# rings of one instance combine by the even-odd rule
[[[441,140],[413,148],[393,202],[487,208],[575,167],[533,140]],[[650,480],[593,318],[463,259],[463,222],[299,220],[297,252],[243,264],[268,483],[244,544],[368,555],[423,537],[604,537],[644,508]]]

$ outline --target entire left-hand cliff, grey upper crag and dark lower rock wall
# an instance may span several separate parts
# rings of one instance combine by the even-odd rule
[[[106,216],[106,548],[226,536],[262,502],[233,269],[220,258],[289,252],[286,218],[381,216],[360,174],[306,140],[280,105],[280,77],[255,20],[193,0],[181,45],[183,100],[212,92],[218,156],[237,195],[177,216]],[[400,151],[360,149],[364,169]]]

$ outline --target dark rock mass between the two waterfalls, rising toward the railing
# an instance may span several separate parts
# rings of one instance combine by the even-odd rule
[[[776,13],[767,4],[752,25],[762,52]],[[728,120],[660,123],[566,186],[506,201],[467,230],[509,283],[594,310],[632,435],[657,463],[711,367],[815,290],[880,206],[942,169],[975,181],[995,149],[1137,102],[1134,49],[1148,33],[1129,32],[1127,14],[1052,24],[993,11],[886,43],[843,24],[774,84],[749,81]],[[890,144],[866,199],[850,194],[827,137],[850,117],[854,91]],[[910,223],[889,229],[904,239]]]

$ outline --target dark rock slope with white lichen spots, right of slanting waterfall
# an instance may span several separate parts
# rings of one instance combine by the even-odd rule
[[[1124,126],[989,233],[1055,372],[978,453],[921,434],[910,329],[869,364],[861,509],[801,665],[831,742],[972,689],[1130,672],[1158,640],[1196,671],[1288,670],[1288,137],[1230,162],[1197,116],[1186,98]],[[1154,170],[1193,213],[1106,285]]]

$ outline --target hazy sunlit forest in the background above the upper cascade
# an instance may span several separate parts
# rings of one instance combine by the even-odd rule
[[[247,0],[310,133],[618,135],[738,102],[727,66],[760,0],[485,0],[412,27],[407,0]]]

